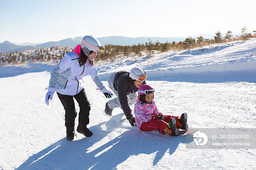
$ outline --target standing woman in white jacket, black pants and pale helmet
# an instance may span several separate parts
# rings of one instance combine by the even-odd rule
[[[73,98],[76,99],[80,107],[79,123],[76,131],[86,137],[93,135],[87,128],[87,124],[89,124],[90,102],[81,84],[83,76],[90,74],[91,79],[93,79],[106,98],[111,98],[112,93],[103,86],[97,74],[97,69],[94,67],[94,57],[97,56],[97,53],[102,54],[104,50],[105,47],[101,46],[101,43],[96,38],[87,35],[73,52],[64,55],[60,63],[51,72],[45,103],[49,104],[48,100],[53,98],[53,94],[56,91],[65,109],[65,126],[68,141],[74,139],[75,133],[77,112]]]

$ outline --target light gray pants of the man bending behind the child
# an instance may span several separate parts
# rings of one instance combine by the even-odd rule
[[[121,107],[120,101],[119,101],[119,98],[118,98],[118,92],[114,89],[114,86],[113,86],[114,77],[115,77],[116,74],[117,74],[117,72],[112,73],[109,76],[109,79],[108,79],[109,88],[111,88],[111,90],[117,96],[116,98],[108,101],[108,106],[111,110],[113,110],[114,108],[117,108],[117,107]],[[136,93],[130,93],[130,94],[127,95],[127,101],[128,101],[129,106],[131,106],[132,104],[135,104],[137,96],[138,95]]]

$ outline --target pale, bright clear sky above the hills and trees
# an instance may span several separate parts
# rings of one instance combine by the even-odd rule
[[[93,35],[188,37],[256,30],[255,0],[0,0],[0,43]]]

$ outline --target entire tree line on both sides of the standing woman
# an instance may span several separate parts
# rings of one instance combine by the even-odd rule
[[[137,44],[133,46],[117,46],[117,45],[106,45],[105,52],[99,54],[96,61],[98,60],[113,60],[123,56],[133,56],[136,60],[137,57],[143,55],[151,56],[153,54],[159,54],[170,50],[181,51],[189,50],[195,47],[208,46],[216,43],[226,43],[235,40],[248,40],[249,38],[256,37],[256,31],[250,33],[246,27],[241,28],[240,36],[233,36],[232,31],[227,31],[224,35],[217,31],[213,39],[206,39],[203,36],[196,38],[187,37],[184,41],[173,41],[166,43],[160,43],[158,40],[152,42],[150,39],[145,44]],[[43,61],[43,62],[59,62],[64,54],[74,50],[74,47],[50,47],[50,48],[39,48],[36,50],[28,50],[22,52],[10,52],[2,54],[0,53],[0,63],[24,63],[26,61]]]

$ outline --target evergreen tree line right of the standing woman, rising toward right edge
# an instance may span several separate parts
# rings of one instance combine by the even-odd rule
[[[150,39],[145,44],[137,44],[133,46],[115,46],[115,45],[106,45],[106,51],[104,54],[101,54],[100,58],[96,60],[113,60],[120,56],[139,56],[142,55],[152,55],[158,54],[161,52],[167,52],[170,50],[181,51],[189,50],[195,47],[208,46],[210,44],[216,43],[226,43],[236,40],[248,40],[249,38],[256,37],[256,31],[249,33],[246,27],[241,28],[240,36],[233,36],[232,31],[227,31],[225,35],[222,35],[220,31],[215,33],[213,39],[206,39],[203,36],[198,36],[196,38],[187,37],[184,41],[173,41],[166,43],[160,43],[159,41],[152,42]]]

